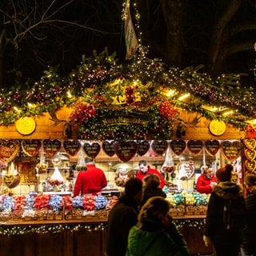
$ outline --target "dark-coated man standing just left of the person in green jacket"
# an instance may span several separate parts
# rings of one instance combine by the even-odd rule
[[[142,180],[129,178],[124,194],[110,210],[106,236],[107,256],[125,256],[130,228],[136,225],[142,202]]]

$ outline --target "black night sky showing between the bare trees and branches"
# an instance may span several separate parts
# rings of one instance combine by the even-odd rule
[[[14,2],[18,5],[16,1]],[[36,1],[20,1],[20,4],[16,6],[18,14],[15,16],[10,1],[1,1],[1,10],[5,10],[8,15],[13,15],[1,14],[3,15],[1,25],[10,33],[7,34],[8,36],[14,35],[14,22],[24,19],[26,11],[29,13],[30,7],[31,10],[34,10],[34,2]],[[39,3],[37,14],[46,10],[46,5],[49,5],[50,2],[46,0]],[[53,6],[52,11],[58,10],[59,6],[67,1],[58,2]],[[223,3],[221,7],[225,10],[225,4],[230,1],[221,2]],[[23,7],[21,3],[24,3]],[[131,5],[132,3],[134,1],[131,1]],[[139,20],[141,31],[136,30],[136,32],[137,34],[138,32],[142,33],[142,45],[150,46],[150,58],[162,58],[165,62],[166,56],[163,49],[166,44],[167,30],[161,6],[155,0],[140,0],[137,3],[138,13],[141,15]],[[181,68],[207,63],[209,45],[212,40],[211,28],[214,22],[214,12],[217,11],[217,4],[218,1],[211,0],[186,2],[186,22],[182,27],[185,51],[182,53]],[[134,15],[135,10],[131,8],[131,11]],[[256,1],[244,0],[228,26],[232,28],[238,24],[249,24],[249,22],[256,24],[255,14]],[[16,17],[15,20],[10,18],[14,16]],[[60,74],[69,74],[82,62],[82,54],[89,57],[93,50],[100,53],[105,47],[109,49],[110,54],[116,51],[118,58],[125,61],[126,47],[122,22],[122,1],[108,0],[106,3],[105,0],[75,0],[54,14],[53,18],[77,22],[83,27],[63,25],[58,22],[42,24],[21,38],[16,48],[13,44],[7,44],[4,51],[4,85],[13,82],[14,73],[10,72],[11,70],[21,70],[24,81],[28,78],[40,78],[43,70],[48,70],[49,66],[59,65]],[[30,19],[32,21],[31,16]],[[22,31],[23,28],[18,26],[18,29]],[[255,26],[250,30],[242,30],[240,33],[230,36],[229,43],[250,42],[252,44],[256,42],[255,30]],[[256,54],[253,48],[232,54],[226,59],[222,69],[223,73],[246,74],[243,78],[244,81],[251,83],[254,81],[252,69],[255,67],[255,59]]]

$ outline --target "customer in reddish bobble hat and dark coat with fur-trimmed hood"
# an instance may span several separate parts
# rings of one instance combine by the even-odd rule
[[[242,186],[231,182],[233,166],[216,171],[218,184],[210,194],[203,240],[212,243],[216,256],[238,256],[245,225],[245,199]]]

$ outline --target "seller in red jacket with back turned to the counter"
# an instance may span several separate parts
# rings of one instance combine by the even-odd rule
[[[79,194],[98,194],[107,185],[103,170],[95,166],[93,159],[86,158],[86,168],[78,173],[74,183],[74,197]]]

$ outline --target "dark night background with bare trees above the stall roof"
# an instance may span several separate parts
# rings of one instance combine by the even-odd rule
[[[185,68],[203,64],[218,76],[242,73],[254,82],[255,0],[130,0],[134,25],[140,14],[142,45],[150,58]],[[2,0],[0,2],[0,82],[12,86],[14,74],[38,79],[59,65],[68,74],[108,47],[125,61],[122,1]],[[138,9],[137,9],[138,8]],[[20,73],[17,73],[19,71]]]

